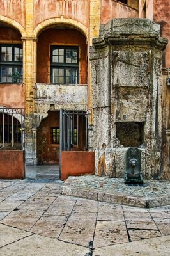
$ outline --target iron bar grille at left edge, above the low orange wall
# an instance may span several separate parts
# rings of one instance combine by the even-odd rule
[[[24,150],[23,108],[0,108],[0,149]]]

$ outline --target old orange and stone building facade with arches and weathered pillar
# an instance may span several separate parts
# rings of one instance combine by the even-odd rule
[[[168,0],[0,0],[0,108],[24,109],[27,165],[59,163],[65,136],[75,151],[90,144],[97,175],[122,177],[139,147],[144,176],[170,178],[169,11]],[[0,115],[1,148],[18,146],[19,117]]]

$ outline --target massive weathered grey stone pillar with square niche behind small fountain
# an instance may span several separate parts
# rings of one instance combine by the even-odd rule
[[[95,174],[123,177],[129,147],[141,151],[145,179],[162,175],[162,50],[167,40],[148,19],[100,26],[90,49]]]

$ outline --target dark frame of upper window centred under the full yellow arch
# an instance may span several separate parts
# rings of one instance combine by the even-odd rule
[[[53,62],[52,58],[53,56],[59,56],[54,55],[53,51],[55,49],[63,49],[64,50],[64,61],[63,62]],[[77,50],[77,63],[66,63],[66,50]],[[66,83],[66,70],[72,69],[77,71],[77,83]],[[53,70],[54,69],[63,69],[64,75],[63,77],[63,83],[53,83]],[[59,77],[59,76],[57,76]],[[50,83],[52,84],[79,84],[79,46],[72,46],[72,45],[50,45]]]

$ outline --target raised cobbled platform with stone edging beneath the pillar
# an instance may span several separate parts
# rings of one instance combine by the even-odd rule
[[[170,204],[170,181],[144,180],[143,185],[131,185],[120,178],[70,176],[61,193],[111,204],[151,208]]]

